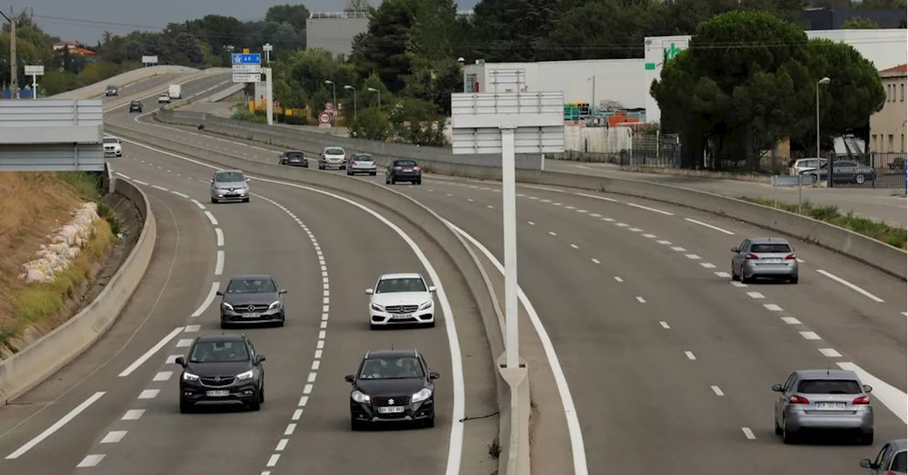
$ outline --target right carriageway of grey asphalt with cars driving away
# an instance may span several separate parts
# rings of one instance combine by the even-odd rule
[[[135,126],[251,160],[273,163],[278,152]],[[427,177],[395,189],[500,259],[497,184]],[[902,436],[908,377],[893,361],[905,358],[908,342],[903,282],[795,242],[799,284],[733,285],[728,250],[765,231],[621,196],[524,185],[518,193],[521,287],[558,353],[584,439],[585,450],[575,450],[590,472],[756,474],[796,464],[854,473],[857,460]],[[840,366],[875,387],[874,447],[783,445],[769,387],[796,369]],[[652,453],[627,457],[641,447]]]

